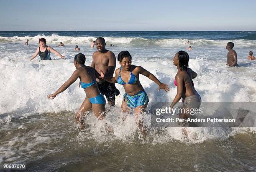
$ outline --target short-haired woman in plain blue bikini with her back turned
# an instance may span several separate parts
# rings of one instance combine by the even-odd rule
[[[54,99],[56,95],[66,90],[70,85],[72,85],[77,78],[80,79],[80,86],[84,89],[86,97],[82,103],[80,109],[76,114],[76,122],[84,125],[84,114],[89,110],[93,110],[95,116],[102,120],[105,117],[105,98],[97,87],[95,78],[99,77],[98,72],[90,66],[84,65],[85,56],[82,53],[77,54],[74,57],[74,66],[77,70],[74,71],[72,76],[65,82],[59,89],[52,95],[48,95],[48,98]]]

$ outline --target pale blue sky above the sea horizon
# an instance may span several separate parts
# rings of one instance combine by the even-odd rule
[[[0,31],[256,30],[255,0],[1,0]]]

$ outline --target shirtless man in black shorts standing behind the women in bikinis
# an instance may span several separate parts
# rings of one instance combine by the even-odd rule
[[[112,78],[115,72],[116,59],[113,52],[106,50],[105,39],[103,37],[98,37],[95,41],[97,51],[92,55],[92,65],[97,72],[100,74],[102,70],[105,77]],[[105,80],[96,79],[98,87],[103,95],[106,96],[108,104],[110,106],[115,106],[115,95],[119,95],[120,92],[115,88],[115,84],[107,82]]]

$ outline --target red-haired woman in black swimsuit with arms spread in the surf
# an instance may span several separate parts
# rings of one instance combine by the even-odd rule
[[[54,50],[52,47],[46,45],[46,39],[44,39],[43,37],[39,39],[39,45],[40,46],[36,49],[36,52],[29,60],[33,60],[37,55],[40,56],[41,60],[51,60],[51,52],[53,52],[56,55],[59,55],[61,59],[64,59],[65,56],[59,54],[59,52]]]

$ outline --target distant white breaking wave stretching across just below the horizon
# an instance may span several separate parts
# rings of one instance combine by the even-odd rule
[[[73,37],[73,36],[59,36],[57,34],[52,34],[50,36],[46,35],[36,35],[34,37],[31,36],[25,36],[25,37],[0,37],[0,42],[18,42],[18,43],[24,43],[26,39],[29,40],[29,43],[38,43],[39,38],[44,37],[46,39],[46,42],[49,44],[59,44],[59,42],[64,42],[64,44],[67,45],[81,45],[81,44],[89,44],[93,40],[96,40],[97,37]],[[256,45],[256,35],[254,40],[248,40],[248,38],[251,38],[252,35],[247,37],[242,37],[241,39],[237,40],[205,40],[205,39],[194,39],[190,40],[190,45],[199,45],[199,46],[209,46],[209,45],[226,45],[227,42],[234,42],[235,45],[239,46],[255,46]],[[180,46],[180,45],[186,45],[187,39],[185,38],[177,38],[177,39],[171,39],[171,38],[165,38],[165,39],[146,39],[143,37],[104,37],[107,44],[129,44],[132,46]]]

